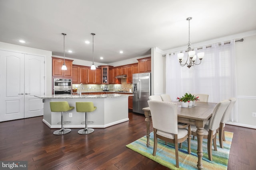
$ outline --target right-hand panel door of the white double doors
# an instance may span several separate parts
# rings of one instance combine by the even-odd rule
[[[43,115],[44,57],[25,54],[24,118]]]

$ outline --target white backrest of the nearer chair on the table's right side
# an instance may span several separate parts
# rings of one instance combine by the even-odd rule
[[[208,125],[209,129],[214,131],[220,127],[220,121],[222,119],[222,116],[224,115],[224,112],[228,108],[229,104],[230,104],[229,100],[223,100],[218,104],[216,104],[212,112],[212,117],[209,120],[209,125]]]

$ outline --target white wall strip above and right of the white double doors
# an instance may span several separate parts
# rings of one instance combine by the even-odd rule
[[[6,51],[14,51],[18,53],[26,53],[31,55],[38,55],[45,57],[45,92],[46,94],[52,94],[52,51],[45,51],[41,49],[34,49],[30,47],[24,47],[20,45],[8,44],[0,42],[0,49]],[[51,68],[47,69],[47,66],[50,65]]]

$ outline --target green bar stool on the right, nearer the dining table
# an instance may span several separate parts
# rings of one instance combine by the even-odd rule
[[[78,131],[81,135],[86,135],[94,132],[94,129],[87,127],[87,112],[94,111],[97,107],[94,107],[93,102],[76,102],[76,111],[85,112],[85,128]]]

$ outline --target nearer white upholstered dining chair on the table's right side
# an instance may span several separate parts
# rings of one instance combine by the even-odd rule
[[[214,110],[212,112],[212,116],[210,117],[209,124],[204,126],[204,139],[207,139],[207,150],[208,150],[208,159],[212,161],[212,141],[214,150],[217,150],[216,146],[216,134],[217,129],[220,126],[220,121],[222,119],[222,116],[224,115],[224,112],[226,111],[228,105],[230,104],[229,100],[223,100],[222,102],[219,102],[214,107]],[[196,126],[191,125],[191,131],[192,135],[196,135]]]

